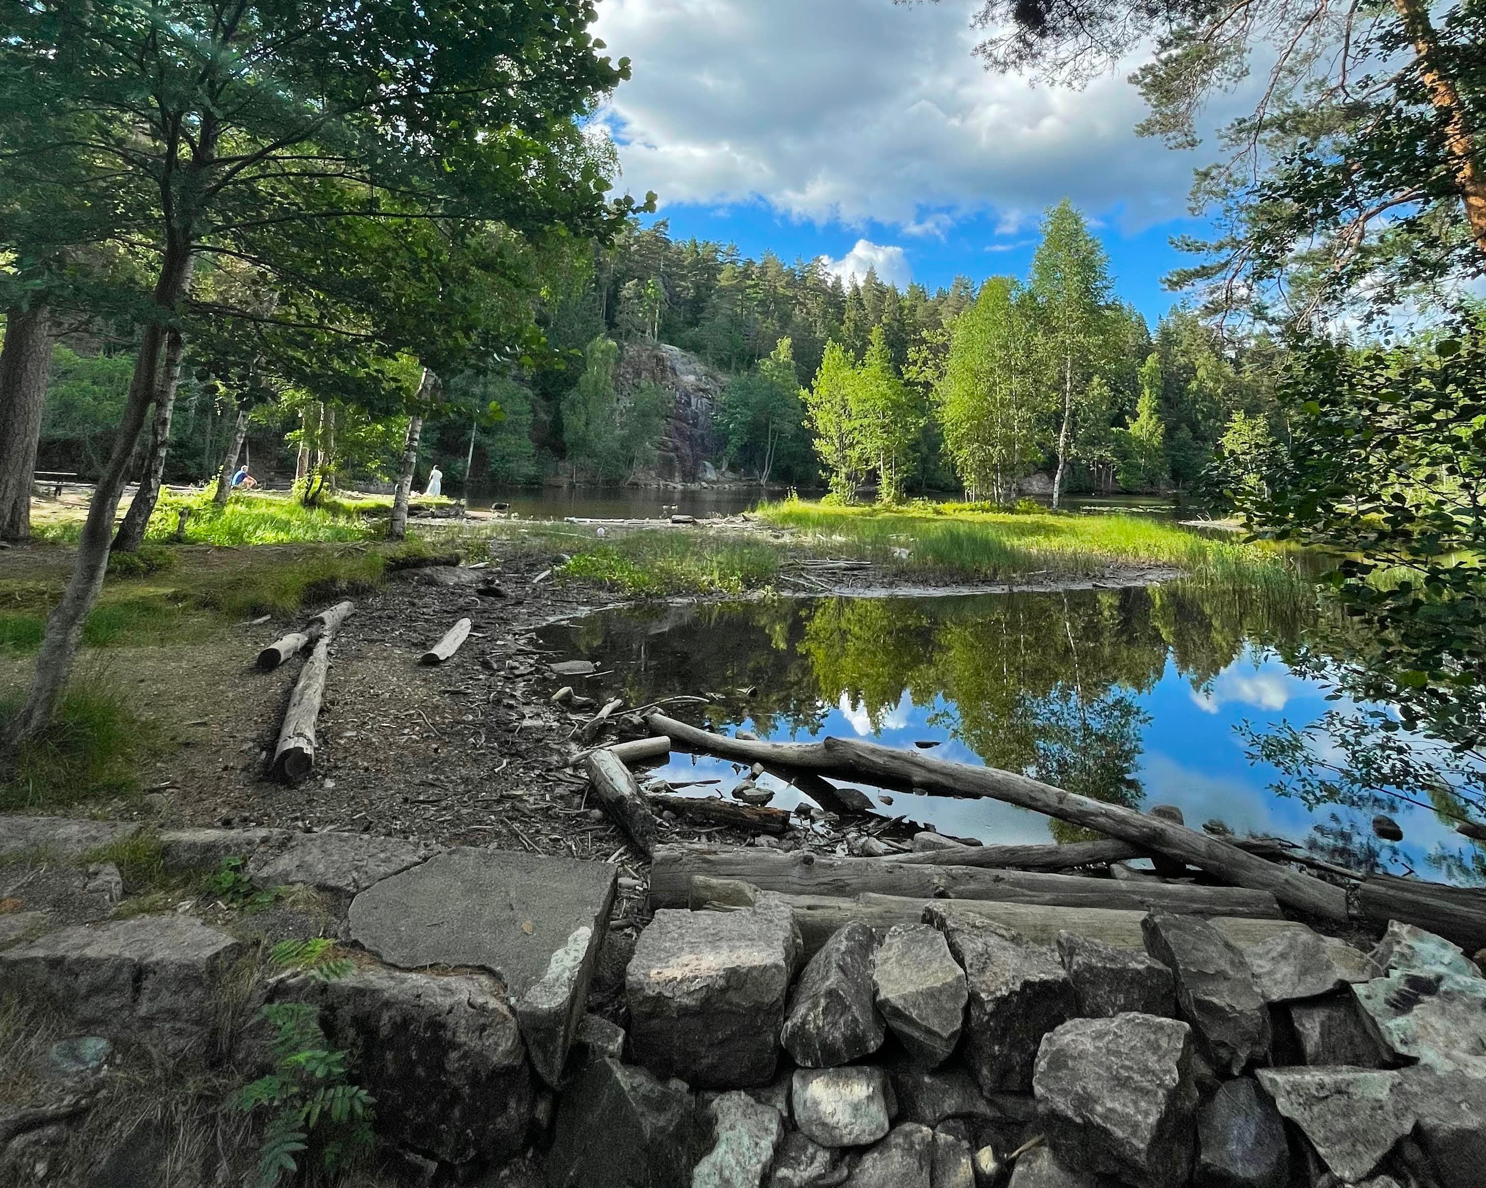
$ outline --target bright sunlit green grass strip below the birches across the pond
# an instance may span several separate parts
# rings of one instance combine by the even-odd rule
[[[1021,576],[1088,578],[1112,567],[1164,567],[1189,573],[1287,569],[1262,545],[1214,541],[1149,515],[994,511],[967,503],[902,508],[767,503],[764,521],[795,532],[816,555],[860,557],[890,569],[1006,581]]]

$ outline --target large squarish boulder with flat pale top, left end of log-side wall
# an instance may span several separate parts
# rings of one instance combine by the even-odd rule
[[[657,912],[624,977],[633,1057],[700,1087],[764,1084],[798,953],[788,909]]]

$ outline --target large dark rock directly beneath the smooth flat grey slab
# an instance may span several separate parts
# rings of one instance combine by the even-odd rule
[[[288,992],[319,1004],[325,1034],[376,1097],[385,1138],[446,1163],[520,1151],[532,1077],[495,979],[372,967],[296,979]]]

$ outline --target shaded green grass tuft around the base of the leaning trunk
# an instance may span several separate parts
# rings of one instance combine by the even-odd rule
[[[0,735],[22,704],[21,693],[0,698]],[[83,674],[67,691],[51,726],[0,754],[0,809],[61,808],[132,794],[140,787],[140,766],[158,742],[158,731],[111,682]]]

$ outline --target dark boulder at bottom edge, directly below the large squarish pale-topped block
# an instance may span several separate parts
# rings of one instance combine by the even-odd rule
[[[562,1094],[547,1152],[551,1188],[685,1188],[692,1102],[679,1081],[596,1060]]]

